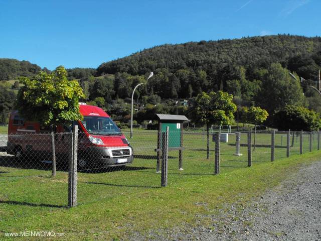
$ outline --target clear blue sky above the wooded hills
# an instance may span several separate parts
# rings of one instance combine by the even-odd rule
[[[96,68],[166,43],[319,36],[320,12],[320,0],[0,0],[0,58]]]

